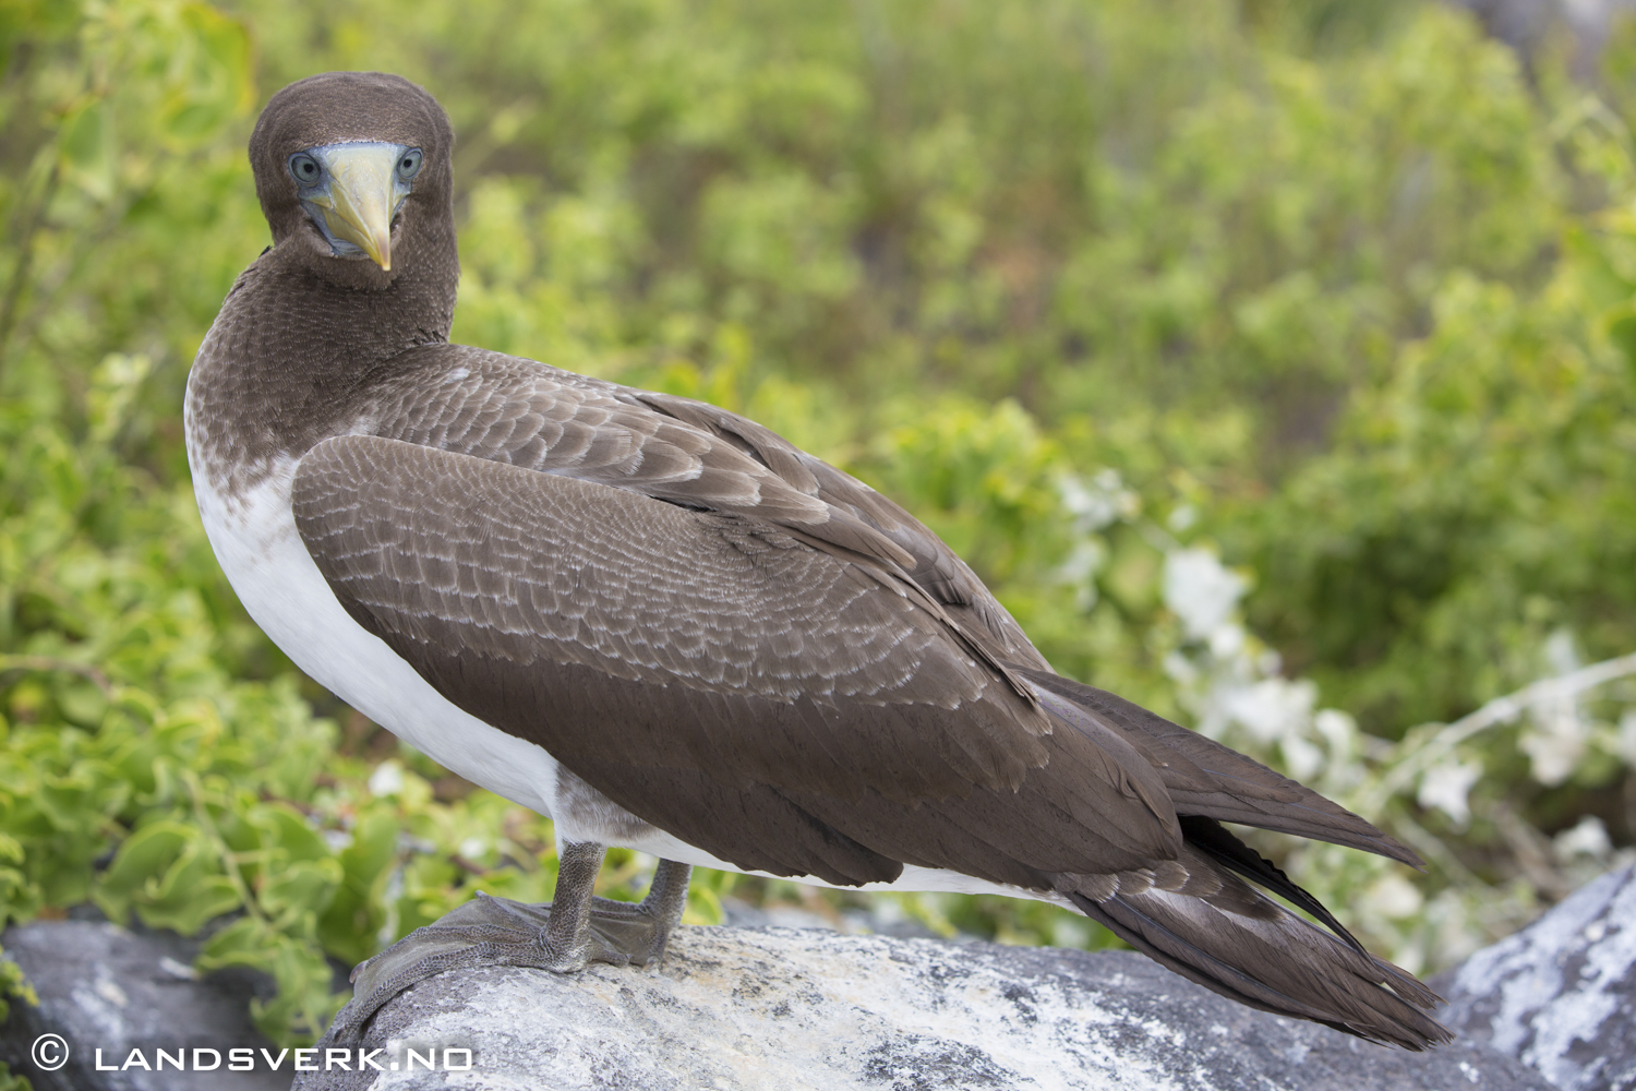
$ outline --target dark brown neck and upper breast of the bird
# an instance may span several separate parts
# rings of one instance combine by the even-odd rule
[[[357,290],[281,250],[239,276],[188,376],[188,448],[213,478],[258,478],[353,430],[368,412],[373,371],[407,348],[448,340],[453,262]]]

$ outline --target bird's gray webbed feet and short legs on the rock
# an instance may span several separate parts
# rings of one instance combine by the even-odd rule
[[[419,927],[352,973],[353,998],[335,1016],[322,1044],[347,1044],[391,998],[448,970],[507,965],[578,973],[594,962],[646,965],[664,957],[671,932],[687,905],[692,869],[659,860],[648,896],[640,903],[594,898],[605,849],[564,844],[556,898],[525,905],[509,898],[476,898]]]

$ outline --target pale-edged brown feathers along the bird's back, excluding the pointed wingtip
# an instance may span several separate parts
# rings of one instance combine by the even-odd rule
[[[376,435],[751,515],[906,577],[1001,674],[1001,662],[1047,666],[937,535],[746,417],[465,345],[416,348],[391,368],[366,409]]]

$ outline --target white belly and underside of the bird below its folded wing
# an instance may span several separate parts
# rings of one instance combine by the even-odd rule
[[[209,474],[196,465],[193,486],[204,533],[227,582],[255,623],[311,679],[450,772],[553,818],[560,842],[618,844],[667,860],[764,875],[677,841],[612,803],[600,815],[592,813],[597,808],[558,806],[555,757],[455,707],[342,608],[296,530],[290,509],[294,468],[294,460],[285,460],[240,502],[216,492]],[[829,885],[816,878],[802,882]],[[869,883],[862,890],[996,893],[1067,905],[1057,895],[913,865],[893,883]]]

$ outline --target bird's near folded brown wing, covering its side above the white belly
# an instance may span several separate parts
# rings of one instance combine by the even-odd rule
[[[342,605],[445,697],[739,867],[1049,887],[1180,847],[1127,743],[1052,731],[844,550],[381,437],[312,448],[293,504]]]

